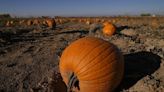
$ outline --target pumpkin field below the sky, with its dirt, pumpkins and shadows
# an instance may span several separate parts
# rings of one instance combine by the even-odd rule
[[[164,17],[1,18],[0,92],[164,92]]]

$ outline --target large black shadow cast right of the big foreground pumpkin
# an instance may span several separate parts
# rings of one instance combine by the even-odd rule
[[[122,83],[116,92],[132,87],[141,78],[151,75],[159,67],[161,57],[152,52],[137,52],[124,55],[125,72]]]

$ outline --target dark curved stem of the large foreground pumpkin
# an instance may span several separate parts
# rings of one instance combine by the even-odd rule
[[[72,88],[73,87],[77,87],[78,90],[79,89],[79,85],[78,85],[78,78],[76,75],[74,75],[74,73],[71,73],[70,77],[69,77],[69,82],[68,82],[68,87],[67,87],[67,92],[72,92]]]

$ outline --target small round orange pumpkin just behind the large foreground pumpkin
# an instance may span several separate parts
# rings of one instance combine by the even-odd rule
[[[104,35],[112,36],[115,33],[116,27],[112,23],[104,22],[103,25],[104,25],[104,28],[103,28]]]

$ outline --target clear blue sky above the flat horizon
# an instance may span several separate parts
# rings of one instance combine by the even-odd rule
[[[15,16],[164,14],[164,0],[0,0],[0,13]]]

